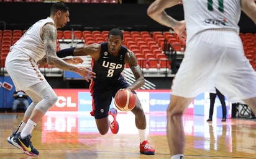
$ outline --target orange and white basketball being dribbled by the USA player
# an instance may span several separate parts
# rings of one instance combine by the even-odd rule
[[[121,89],[114,97],[116,108],[121,111],[130,111],[135,107],[136,97],[130,90]]]

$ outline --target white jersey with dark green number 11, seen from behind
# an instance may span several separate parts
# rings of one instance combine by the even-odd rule
[[[239,33],[240,0],[183,0],[187,41],[204,30],[229,28]]]

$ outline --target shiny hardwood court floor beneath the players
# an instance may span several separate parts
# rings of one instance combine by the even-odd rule
[[[32,143],[40,152],[29,157],[6,142],[16,129],[23,113],[0,114],[0,158],[66,158],[66,159],[170,159],[166,137],[166,114],[147,114],[149,142],[155,155],[139,153],[139,135],[133,114],[119,113],[119,133],[99,135],[89,113],[47,113],[32,133]],[[256,120],[213,119],[186,114],[185,158],[237,159],[256,158]]]

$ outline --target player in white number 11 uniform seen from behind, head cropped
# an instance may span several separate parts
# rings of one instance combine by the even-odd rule
[[[191,101],[216,87],[231,102],[243,101],[256,112],[256,74],[244,56],[239,38],[241,10],[256,23],[254,0],[183,0],[185,20],[175,20],[165,9],[180,0],[156,0],[148,15],[173,28],[186,40],[186,52],[171,87],[167,110],[167,138],[171,159],[184,158],[182,117]],[[186,23],[185,23],[186,22]]]

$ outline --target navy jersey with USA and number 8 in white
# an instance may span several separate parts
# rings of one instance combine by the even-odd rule
[[[91,62],[96,78],[93,79],[90,88],[94,88],[94,90],[107,90],[111,88],[111,84],[116,83],[116,80],[119,79],[121,72],[124,70],[124,56],[126,52],[127,48],[121,46],[118,56],[114,57],[107,51],[107,43],[101,43],[99,59],[92,59]]]

